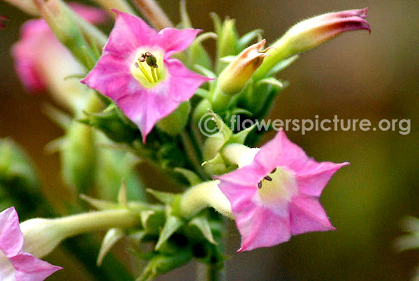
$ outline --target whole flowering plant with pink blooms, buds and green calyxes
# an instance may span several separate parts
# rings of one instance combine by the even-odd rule
[[[20,1],[12,2],[22,7]],[[239,36],[234,20],[216,15],[215,32],[192,28],[184,1],[181,29],[172,27],[153,0],[134,1],[159,31],[124,0],[96,2],[115,15],[108,37],[94,25],[107,18],[103,10],[35,0],[25,10],[43,20],[24,24],[12,54],[29,92],[49,91],[73,114],[50,108],[49,115],[66,129],[50,148],[59,148],[70,192],[97,194],[98,199],[81,196],[98,210],[29,219],[20,226],[14,208],[1,212],[2,280],[43,280],[60,268],[36,257],[49,254],[68,237],[101,229],[108,232],[97,264],[127,237],[133,252],[149,261],[138,280],[151,280],[192,258],[219,271],[225,259],[222,216],[234,219],[240,231],[238,252],[335,229],[320,196],[347,162],[314,161],[284,131],[256,148],[260,134],[254,128],[231,131],[225,122],[234,114],[252,120],[266,116],[287,85],[274,75],[300,53],[344,31],[370,31],[366,8],[304,20],[267,45],[260,30]],[[207,39],[216,40],[214,59],[203,46]],[[212,119],[218,134],[200,131],[198,122],[205,117]],[[103,151],[103,143],[124,151]],[[147,189],[159,203],[148,202],[133,169],[137,157],[185,191]],[[0,183],[24,178],[10,168],[14,161],[0,161]],[[21,161],[20,166],[28,165]],[[140,254],[139,243],[148,242],[154,249]],[[103,278],[112,280],[110,271]]]

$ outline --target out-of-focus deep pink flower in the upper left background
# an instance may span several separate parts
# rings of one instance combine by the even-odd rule
[[[70,6],[85,20],[94,24],[104,22],[107,18],[105,11],[98,8],[80,3],[70,3]],[[64,77],[80,74],[82,71],[81,66],[64,45],[57,41],[44,20],[29,20],[24,23],[21,38],[13,45],[12,55],[17,75],[28,92],[45,91],[51,84],[64,82]],[[54,81],[54,78],[59,78],[59,81]]]

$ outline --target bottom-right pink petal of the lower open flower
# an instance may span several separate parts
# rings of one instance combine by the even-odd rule
[[[293,235],[309,231],[335,230],[318,197],[295,196],[289,210]]]

